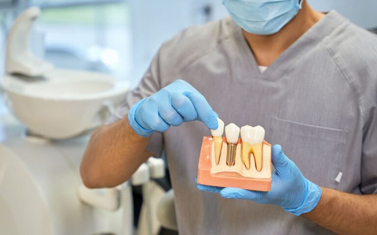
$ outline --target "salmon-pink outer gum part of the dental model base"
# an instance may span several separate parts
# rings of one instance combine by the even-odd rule
[[[225,138],[223,138],[223,144],[226,144]],[[257,179],[243,177],[237,172],[219,172],[211,174],[212,167],[212,137],[204,137],[202,142],[202,148],[200,150],[200,158],[198,165],[198,178],[197,182],[201,185],[209,185],[216,187],[232,187],[243,188],[256,191],[269,191],[271,190],[271,177],[269,179]],[[239,141],[240,143],[241,141]],[[263,145],[267,145],[269,148],[271,144],[263,141]],[[262,153],[263,156],[263,153]],[[272,171],[272,164],[270,163],[270,171]],[[272,174],[271,174],[272,175]]]

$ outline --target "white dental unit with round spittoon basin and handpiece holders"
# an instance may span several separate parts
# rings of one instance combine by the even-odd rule
[[[78,173],[87,132],[124,100],[128,84],[106,74],[57,70],[35,58],[28,38],[39,14],[29,8],[13,25],[0,81],[5,104],[23,123],[10,115],[11,122],[0,121],[0,234],[157,235],[159,221],[170,221],[174,211],[155,183],[165,175],[162,159],[150,158],[116,188],[85,188]],[[132,186],[143,194],[136,233]]]

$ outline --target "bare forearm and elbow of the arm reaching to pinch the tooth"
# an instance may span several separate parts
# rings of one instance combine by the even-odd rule
[[[151,154],[150,138],[137,135],[127,116],[104,125],[91,137],[81,162],[81,178],[88,188],[115,187],[127,181]]]

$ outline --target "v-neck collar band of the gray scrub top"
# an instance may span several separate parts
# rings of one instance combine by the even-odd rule
[[[263,73],[260,71],[255,60],[253,52],[243,36],[242,29],[233,21],[233,36],[235,38],[235,47],[239,53],[239,63],[243,71],[249,71],[245,77],[244,72],[237,72],[235,75],[239,81],[247,82],[250,79],[276,80],[281,74],[284,74],[297,61],[300,54],[305,53],[306,48],[312,48],[320,43],[340,24],[347,21],[336,11],[330,11],[323,19],[309,28],[294,44],[283,52]],[[274,74],[280,74],[274,75]],[[242,75],[243,74],[243,75]]]

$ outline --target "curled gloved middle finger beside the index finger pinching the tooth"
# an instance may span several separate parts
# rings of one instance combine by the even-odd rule
[[[170,97],[173,108],[184,118],[185,121],[193,121],[198,117],[194,105],[190,99],[182,93],[173,93]]]

